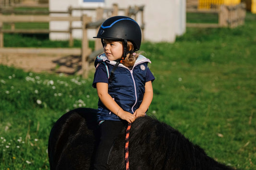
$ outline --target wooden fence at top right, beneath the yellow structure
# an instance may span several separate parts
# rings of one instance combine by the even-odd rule
[[[234,28],[244,24],[244,19],[246,15],[244,3],[240,3],[238,5],[221,5],[219,9],[216,10],[187,9],[187,12],[218,14],[218,23],[186,23],[187,27],[199,28]]]

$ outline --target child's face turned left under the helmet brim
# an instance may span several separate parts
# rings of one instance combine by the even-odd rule
[[[107,55],[109,60],[117,60],[122,57],[122,42],[116,42],[113,40],[104,39],[104,53]]]

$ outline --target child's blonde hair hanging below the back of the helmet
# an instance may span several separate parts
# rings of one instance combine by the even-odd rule
[[[132,42],[127,42],[127,51],[133,51],[134,50],[134,45]],[[126,58],[124,59],[124,62],[122,63],[124,66],[131,68],[134,66],[135,61],[137,60],[138,56],[141,53],[128,53]]]

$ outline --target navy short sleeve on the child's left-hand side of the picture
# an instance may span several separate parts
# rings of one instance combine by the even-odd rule
[[[105,64],[99,64],[96,67],[92,86],[96,88],[96,83],[109,83],[108,72]]]

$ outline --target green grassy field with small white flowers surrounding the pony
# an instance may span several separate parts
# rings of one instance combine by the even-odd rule
[[[148,114],[242,170],[256,169],[255,29],[256,15],[247,13],[245,25],[235,29],[188,28],[175,43],[141,47],[156,77]],[[73,108],[97,108],[93,71],[85,80],[3,65],[0,70],[0,169],[49,169],[53,123]]]

